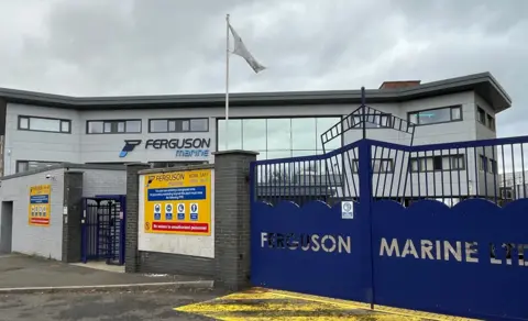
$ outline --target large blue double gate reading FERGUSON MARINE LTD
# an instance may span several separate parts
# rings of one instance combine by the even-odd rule
[[[528,320],[527,143],[364,139],[252,163],[253,285]]]

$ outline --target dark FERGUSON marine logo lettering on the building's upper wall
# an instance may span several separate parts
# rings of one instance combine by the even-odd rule
[[[119,157],[125,157],[142,140],[124,140],[124,146]],[[146,140],[145,150],[174,150],[176,157],[209,157],[211,139],[173,139],[173,140]]]

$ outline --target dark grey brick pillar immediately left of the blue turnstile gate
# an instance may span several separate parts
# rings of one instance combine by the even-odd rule
[[[64,171],[63,262],[80,262],[80,220],[82,218],[82,171]]]

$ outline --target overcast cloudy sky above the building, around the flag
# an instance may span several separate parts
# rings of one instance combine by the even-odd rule
[[[0,87],[73,96],[222,92],[226,13],[268,70],[232,91],[377,88],[491,71],[528,134],[527,0],[0,0]]]

